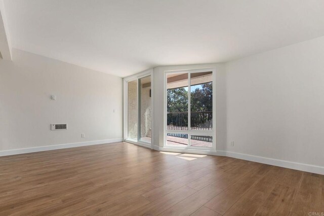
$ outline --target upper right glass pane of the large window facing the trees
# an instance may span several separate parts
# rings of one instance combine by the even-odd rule
[[[213,129],[213,73],[190,74],[191,130]]]

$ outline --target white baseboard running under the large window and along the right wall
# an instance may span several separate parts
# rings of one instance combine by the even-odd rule
[[[263,164],[269,164],[273,166],[280,166],[289,169],[297,169],[305,172],[312,172],[317,174],[324,175],[324,167],[316,166],[311,164],[304,164],[292,161],[285,161],[273,158],[260,157],[255,155],[241,154],[236,152],[228,152],[228,151],[204,151],[204,150],[187,150],[187,149],[176,149],[176,148],[163,148],[158,146],[153,146],[153,149],[156,151],[163,152],[178,152],[178,153],[188,153],[188,154],[203,154],[203,155],[216,155],[216,156],[226,156],[231,158],[237,158],[247,161],[253,161]]]

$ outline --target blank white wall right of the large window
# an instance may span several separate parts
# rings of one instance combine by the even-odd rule
[[[228,62],[226,80],[227,151],[324,166],[324,37]]]

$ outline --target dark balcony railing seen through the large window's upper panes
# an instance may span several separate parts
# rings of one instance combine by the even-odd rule
[[[213,112],[191,112],[191,130],[212,130]],[[167,115],[168,130],[188,130],[188,112],[170,112]]]

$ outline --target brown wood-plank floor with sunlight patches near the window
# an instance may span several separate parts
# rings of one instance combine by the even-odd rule
[[[0,157],[0,171],[0,215],[324,212],[323,175],[123,142]]]

